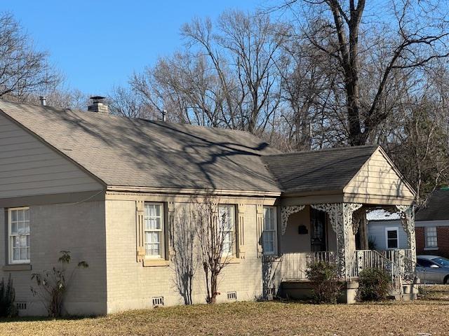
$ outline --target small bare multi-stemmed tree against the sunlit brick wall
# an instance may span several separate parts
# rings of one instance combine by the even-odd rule
[[[206,302],[217,300],[218,280],[222,270],[232,259],[235,237],[234,228],[229,228],[231,214],[226,207],[220,207],[217,200],[206,197],[196,203],[194,223],[199,240],[199,251],[206,280]]]

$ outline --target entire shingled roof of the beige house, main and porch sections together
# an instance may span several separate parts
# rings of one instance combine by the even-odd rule
[[[0,110],[109,186],[342,191],[376,149],[282,154],[248,132],[2,101]]]

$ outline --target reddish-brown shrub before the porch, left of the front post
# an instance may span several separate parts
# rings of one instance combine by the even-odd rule
[[[341,288],[337,265],[324,261],[311,262],[307,267],[306,276],[310,280],[314,302],[337,302]]]

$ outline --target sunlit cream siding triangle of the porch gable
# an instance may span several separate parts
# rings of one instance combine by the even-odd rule
[[[344,188],[344,197],[366,203],[382,203],[382,200],[413,200],[414,195],[406,181],[399,176],[389,160],[377,149],[361,170]]]

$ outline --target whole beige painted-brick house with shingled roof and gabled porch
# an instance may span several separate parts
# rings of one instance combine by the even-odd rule
[[[0,276],[13,277],[20,314],[45,314],[30,277],[60,251],[89,264],[67,293],[69,314],[182,304],[173,229],[192,197],[212,195],[229,214],[219,302],[281,293],[303,277],[304,255],[335,257],[354,279],[367,228],[353,218],[371,207],[403,211],[415,255],[415,193],[380,147],[282,154],[248,132],[109,116],[98,101],[89,109],[0,102]]]

